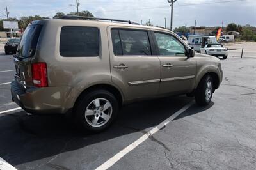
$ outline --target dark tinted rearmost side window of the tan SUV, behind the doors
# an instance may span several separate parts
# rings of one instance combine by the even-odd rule
[[[64,57],[99,56],[99,29],[96,27],[62,27],[60,54]]]

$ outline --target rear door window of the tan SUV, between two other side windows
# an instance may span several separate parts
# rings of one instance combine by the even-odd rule
[[[115,55],[152,55],[147,31],[112,29],[111,36]]]

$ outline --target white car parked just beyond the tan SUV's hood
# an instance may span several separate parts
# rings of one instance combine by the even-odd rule
[[[209,43],[200,49],[200,53],[223,57],[223,59],[227,59],[228,57],[228,49],[223,47],[221,43]]]

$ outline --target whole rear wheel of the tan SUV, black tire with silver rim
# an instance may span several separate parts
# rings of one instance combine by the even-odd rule
[[[118,114],[118,101],[106,90],[95,90],[81,98],[75,108],[76,123],[82,130],[101,132]]]

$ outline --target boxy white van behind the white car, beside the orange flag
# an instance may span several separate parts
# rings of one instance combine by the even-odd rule
[[[218,43],[215,36],[208,35],[189,35],[188,45],[191,49],[199,52],[208,43]]]

